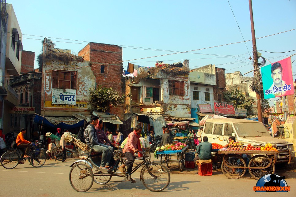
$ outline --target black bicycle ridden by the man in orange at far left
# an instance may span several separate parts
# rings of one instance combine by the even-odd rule
[[[44,165],[46,160],[46,155],[43,152],[36,150],[36,145],[34,143],[30,144],[30,146],[31,147],[28,153],[28,156],[29,156],[28,160],[33,167],[39,168],[42,165]],[[26,161],[26,158],[23,158],[20,156],[20,154],[17,152],[18,149],[19,148],[17,148],[16,150],[9,150],[9,151],[6,151],[4,154],[2,154],[0,158],[1,166],[3,166],[6,169],[13,169],[18,164],[24,164]],[[45,149],[41,148],[41,150],[45,150]]]

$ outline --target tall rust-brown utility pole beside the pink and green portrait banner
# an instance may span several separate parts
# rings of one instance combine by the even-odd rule
[[[249,9],[250,9],[252,43],[253,43],[253,62],[254,62],[254,69],[256,69],[256,70],[254,70],[254,78],[255,78],[256,86],[259,87],[258,84],[260,83],[260,71],[258,69],[258,57],[257,57],[257,47],[256,47],[256,36],[255,36],[255,27],[254,27],[254,19],[253,19],[252,0],[249,0]],[[258,121],[263,123],[260,89],[256,90],[256,97],[257,97]]]

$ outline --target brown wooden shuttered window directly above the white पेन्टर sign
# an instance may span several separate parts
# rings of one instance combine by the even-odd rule
[[[76,89],[76,71],[52,71],[52,88]]]

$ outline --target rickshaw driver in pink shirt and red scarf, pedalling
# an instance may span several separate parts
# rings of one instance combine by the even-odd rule
[[[124,173],[124,167],[127,166],[127,173],[131,174],[131,170],[133,169],[133,164],[135,162],[134,154],[139,151],[142,151],[140,137],[142,127],[140,125],[136,125],[135,130],[128,134],[127,143],[123,148],[123,153],[127,158],[127,162],[120,165],[119,170]],[[136,181],[131,178],[131,183],[135,183]]]

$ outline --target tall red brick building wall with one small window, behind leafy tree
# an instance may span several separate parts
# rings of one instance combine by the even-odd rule
[[[120,96],[123,95],[121,46],[88,43],[78,52],[78,56],[91,62],[91,69],[96,76],[96,87],[112,87]],[[107,66],[107,73],[101,73],[101,65]],[[123,117],[123,106],[111,107],[108,112]]]

